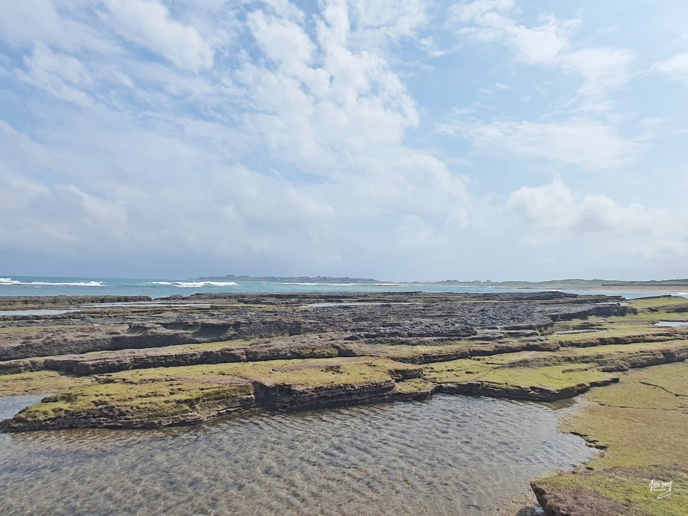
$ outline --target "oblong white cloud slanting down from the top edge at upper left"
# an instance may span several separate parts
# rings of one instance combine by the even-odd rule
[[[158,0],[105,0],[106,19],[115,31],[134,43],[192,71],[211,68],[212,48],[193,26],[172,19]]]

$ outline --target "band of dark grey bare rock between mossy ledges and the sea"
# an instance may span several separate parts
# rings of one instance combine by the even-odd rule
[[[215,304],[188,306],[184,301],[189,299]],[[0,361],[318,333],[373,344],[437,343],[475,337],[488,328],[495,338],[527,332],[534,336],[548,330],[554,319],[587,317],[600,306],[605,313],[625,314],[627,307],[617,303],[597,304],[609,300],[558,292],[193,295],[154,307],[127,304],[63,315],[5,317],[6,327],[35,331],[1,332]]]

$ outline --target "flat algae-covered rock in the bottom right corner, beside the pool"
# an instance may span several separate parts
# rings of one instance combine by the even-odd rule
[[[577,433],[602,456],[588,469],[531,483],[548,515],[678,515],[688,507],[688,364],[620,374],[591,391],[563,431]],[[671,482],[669,494],[651,489]],[[665,489],[666,491],[666,489]]]

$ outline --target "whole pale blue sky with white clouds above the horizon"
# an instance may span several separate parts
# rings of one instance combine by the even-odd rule
[[[0,275],[688,277],[688,2],[0,0]]]

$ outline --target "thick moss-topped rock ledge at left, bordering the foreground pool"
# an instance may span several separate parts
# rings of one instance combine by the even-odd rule
[[[0,426],[6,431],[160,427],[199,423],[253,406],[301,409],[419,399],[429,394],[427,386],[397,388],[397,381],[421,374],[412,364],[368,358],[137,369],[49,396]]]

